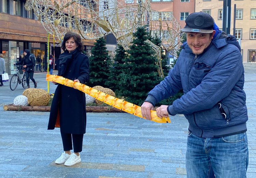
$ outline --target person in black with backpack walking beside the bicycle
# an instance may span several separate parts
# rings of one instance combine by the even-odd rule
[[[33,60],[31,58],[32,58],[32,56],[30,56],[30,51],[28,49],[25,49],[24,50],[24,58],[22,58],[21,61],[14,63],[14,65],[22,64],[23,68],[25,68],[25,74],[26,74],[28,88],[30,88],[29,78],[33,81],[34,88],[37,88],[37,83],[35,82],[35,80],[33,78],[34,64],[33,64],[33,62],[32,62]]]

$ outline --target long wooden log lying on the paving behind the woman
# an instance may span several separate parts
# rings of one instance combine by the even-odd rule
[[[51,110],[51,106],[15,106],[13,104],[4,105],[4,110],[14,110],[14,111],[46,111]],[[112,106],[86,106],[86,112],[91,113],[120,113],[123,112]]]

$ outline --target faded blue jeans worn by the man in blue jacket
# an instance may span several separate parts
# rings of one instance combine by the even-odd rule
[[[201,138],[191,132],[187,137],[187,178],[209,178],[212,169],[216,178],[246,178],[248,166],[246,133]]]

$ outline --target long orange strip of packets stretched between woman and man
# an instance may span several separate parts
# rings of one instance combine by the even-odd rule
[[[64,78],[62,76],[58,76],[58,75],[46,75],[46,81],[55,81],[58,84],[62,84],[68,87],[74,87],[77,90],[80,90],[88,95],[90,95],[91,97],[106,103],[110,106],[113,106],[117,109],[123,110],[127,113],[130,113],[132,115],[138,116],[140,118],[142,117],[141,114],[141,107],[137,106],[135,104],[129,103],[127,101],[112,97],[109,94],[103,93],[99,90],[96,90],[94,88],[91,88],[87,85],[81,84],[81,83],[77,83],[74,82],[70,79]],[[143,118],[145,119],[145,118]],[[154,122],[158,122],[158,123],[170,123],[171,120],[169,117],[163,117],[162,119],[157,117],[156,115],[156,111],[151,110],[151,120]]]

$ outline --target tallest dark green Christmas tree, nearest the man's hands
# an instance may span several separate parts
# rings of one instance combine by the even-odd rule
[[[120,74],[119,94],[126,101],[141,105],[147,93],[159,83],[160,77],[155,52],[145,42],[149,38],[145,27],[139,27],[133,35],[134,39],[128,50],[130,55],[124,60],[124,71]]]

